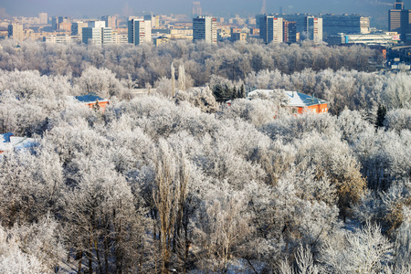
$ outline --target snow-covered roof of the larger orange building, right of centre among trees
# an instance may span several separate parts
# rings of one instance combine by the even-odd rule
[[[312,97],[310,95],[300,93],[298,91],[290,91],[290,90],[281,90],[286,95],[287,99],[289,100],[288,105],[290,107],[309,107],[312,105],[319,105],[327,103],[326,100],[321,100],[319,98]],[[252,97],[253,95],[262,94],[266,97],[270,97],[270,93],[274,92],[274,90],[253,90],[248,93],[248,97]]]

